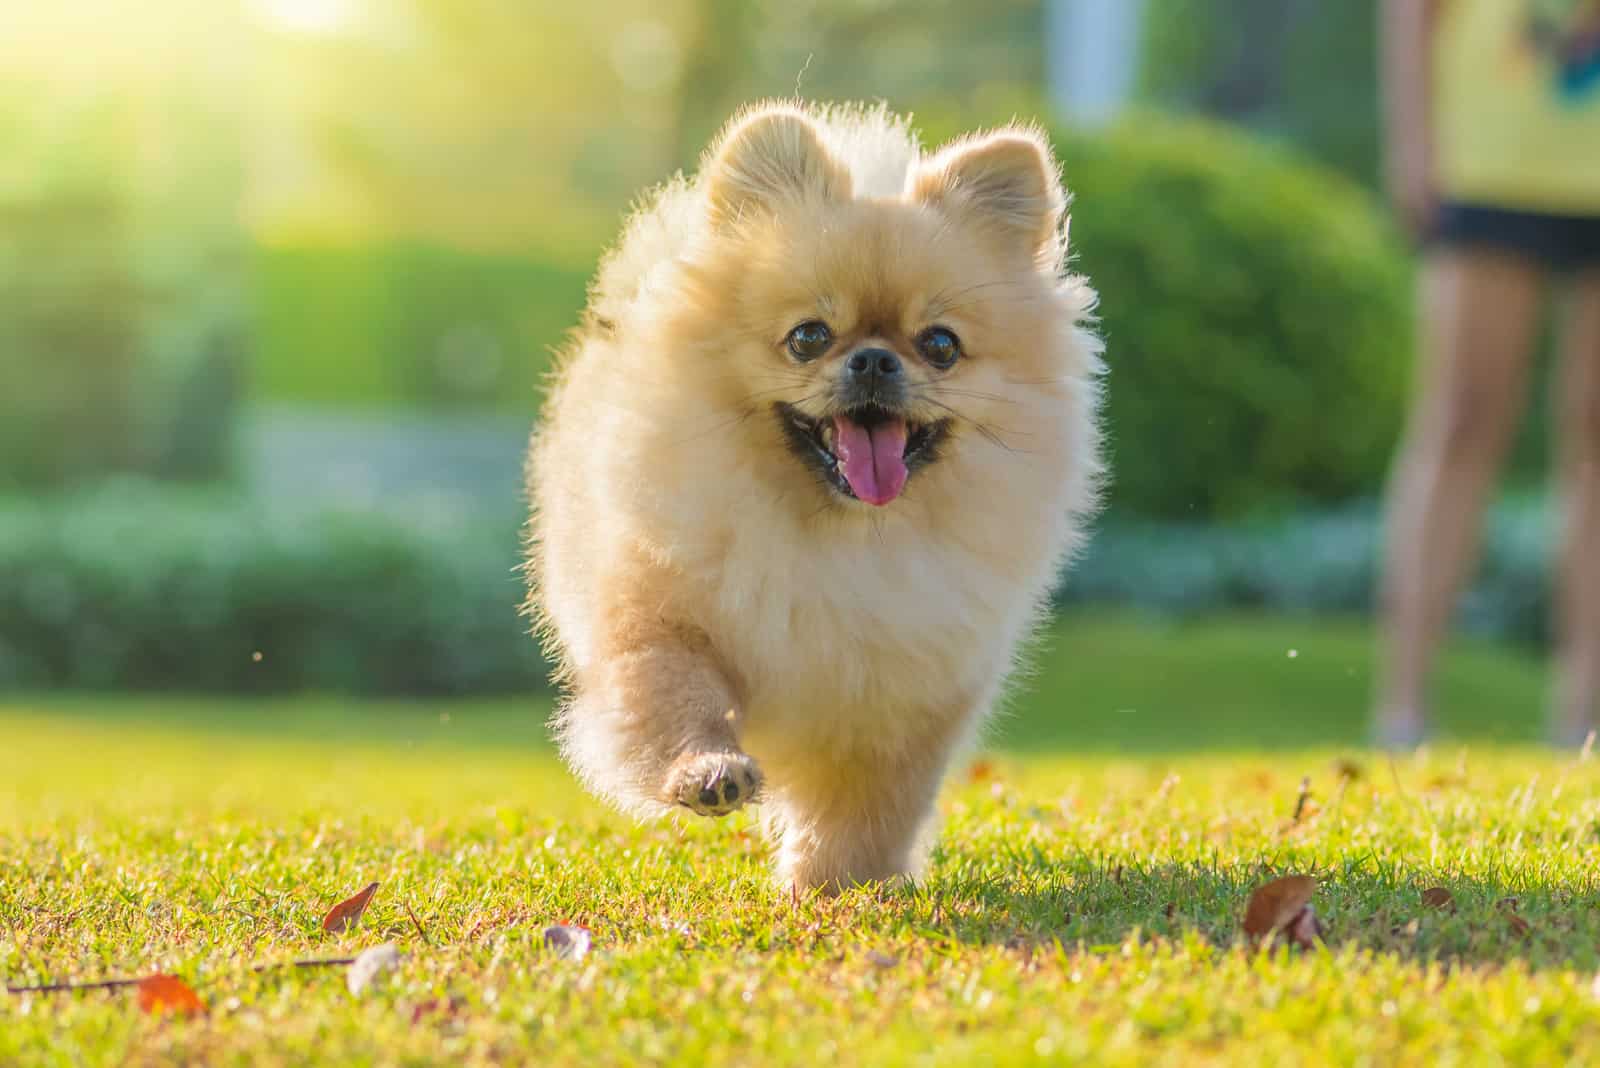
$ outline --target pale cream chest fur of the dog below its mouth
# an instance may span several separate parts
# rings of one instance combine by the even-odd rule
[[[696,616],[739,678],[757,737],[878,748],[965,718],[992,695],[1032,614],[982,553],[909,524],[805,537],[757,523],[722,544],[694,576]]]

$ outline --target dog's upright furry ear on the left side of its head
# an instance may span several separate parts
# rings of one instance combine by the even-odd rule
[[[822,144],[798,107],[744,112],[707,157],[707,197],[718,225],[784,201],[848,200],[850,171]]]

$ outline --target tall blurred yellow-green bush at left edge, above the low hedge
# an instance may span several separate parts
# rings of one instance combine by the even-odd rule
[[[0,107],[0,488],[229,470],[237,185],[202,160],[160,192],[138,181],[128,115]]]

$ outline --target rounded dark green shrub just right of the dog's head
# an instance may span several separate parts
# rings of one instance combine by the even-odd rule
[[[1216,518],[1373,492],[1411,365],[1408,264],[1355,185],[1197,120],[1056,137],[1099,291],[1110,505]]]

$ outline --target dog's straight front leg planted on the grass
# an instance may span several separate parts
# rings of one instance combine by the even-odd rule
[[[768,817],[779,879],[835,894],[917,875],[949,755],[946,737],[928,737],[894,759],[829,763],[779,783]]]

